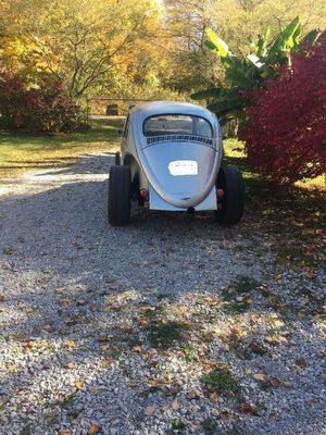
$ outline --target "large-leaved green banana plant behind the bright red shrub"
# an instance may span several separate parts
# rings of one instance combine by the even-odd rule
[[[271,30],[266,29],[256,44],[251,42],[251,54],[242,59],[235,55],[227,44],[213,29],[208,28],[206,47],[213,50],[225,67],[225,78],[228,88],[211,88],[193,94],[195,99],[205,99],[209,109],[225,124],[231,119],[243,119],[243,110],[249,98],[243,97],[241,90],[254,89],[262,86],[264,80],[275,78],[279,74],[279,66],[289,62],[290,53],[299,50],[302,26],[299,17],[292,20],[269,44]],[[322,34],[326,37],[325,32]],[[317,30],[311,32],[304,41],[316,44],[321,37]],[[275,67],[276,66],[276,67]]]

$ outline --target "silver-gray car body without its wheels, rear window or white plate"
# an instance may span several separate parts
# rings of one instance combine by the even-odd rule
[[[177,135],[149,137],[143,133],[146,120],[152,116],[190,115],[206,120],[212,127],[211,140]],[[185,135],[187,136],[187,135]],[[190,136],[190,135],[189,135]],[[129,111],[121,146],[123,164],[131,178],[150,192],[150,209],[216,210],[216,178],[223,156],[222,130],[216,116],[191,103],[158,101],[136,105]],[[175,175],[171,164],[197,162],[197,174]]]

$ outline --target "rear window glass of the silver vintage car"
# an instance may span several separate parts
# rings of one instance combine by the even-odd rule
[[[156,115],[148,117],[143,123],[145,136],[191,135],[213,137],[209,121],[191,115]]]

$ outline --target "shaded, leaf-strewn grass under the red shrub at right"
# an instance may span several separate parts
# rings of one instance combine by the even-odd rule
[[[225,153],[226,164],[240,167],[246,181],[247,219],[239,226],[243,237],[263,235],[267,249],[285,266],[321,266],[326,260],[325,177],[275,186],[250,170],[237,140],[225,142]],[[263,239],[260,244],[265,249]]]

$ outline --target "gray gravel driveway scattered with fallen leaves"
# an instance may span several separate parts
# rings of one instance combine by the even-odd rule
[[[248,216],[109,227],[112,161],[0,184],[1,435],[326,434],[325,271]]]

